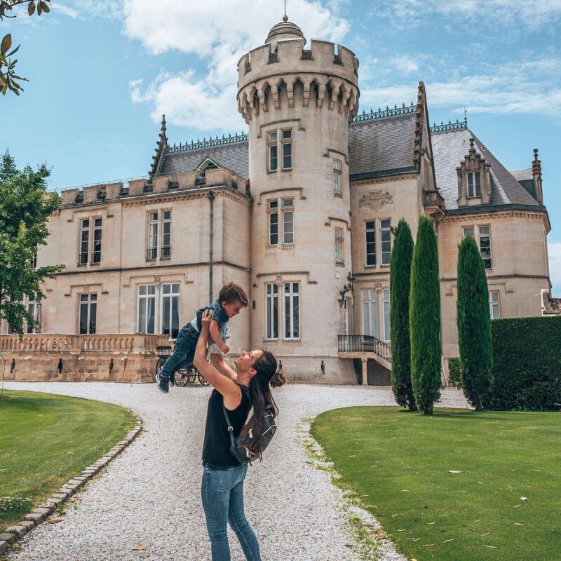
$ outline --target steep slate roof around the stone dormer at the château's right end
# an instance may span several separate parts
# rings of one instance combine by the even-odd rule
[[[491,202],[493,205],[518,203],[537,205],[515,177],[497,160],[471,130],[454,130],[432,135],[436,185],[444,197],[446,208],[458,208],[458,175],[456,168],[464,161],[469,149],[469,139],[475,140],[475,149],[491,164]]]

